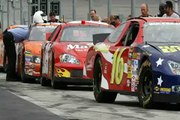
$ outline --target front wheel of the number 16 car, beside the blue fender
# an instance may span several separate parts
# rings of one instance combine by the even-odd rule
[[[149,60],[146,60],[140,68],[138,99],[140,106],[143,108],[152,108],[154,105],[153,77],[151,63],[149,62]]]

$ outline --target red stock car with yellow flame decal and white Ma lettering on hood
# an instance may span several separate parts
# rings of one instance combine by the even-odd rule
[[[111,33],[114,27],[102,22],[72,21],[61,24],[42,46],[42,86],[64,88],[71,84],[92,85],[83,79],[83,66],[88,48],[93,45],[93,34]]]

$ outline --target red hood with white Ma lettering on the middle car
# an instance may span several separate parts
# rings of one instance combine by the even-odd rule
[[[86,58],[87,51],[92,45],[90,42],[60,42],[54,44],[54,51],[58,50],[82,59]]]

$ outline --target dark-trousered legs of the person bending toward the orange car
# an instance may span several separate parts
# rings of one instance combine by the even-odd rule
[[[7,79],[15,79],[15,65],[16,65],[16,51],[15,44],[13,40],[13,35],[10,32],[7,32],[3,36],[3,42],[5,46],[6,55],[8,57],[8,68],[7,68]]]

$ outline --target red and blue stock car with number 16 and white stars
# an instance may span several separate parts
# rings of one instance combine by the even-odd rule
[[[135,95],[144,108],[180,103],[180,19],[130,19],[89,48],[83,75],[97,102]],[[98,38],[99,39],[99,38]]]

